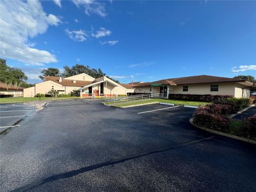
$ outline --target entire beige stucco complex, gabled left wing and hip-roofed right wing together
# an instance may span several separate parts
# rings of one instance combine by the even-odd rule
[[[37,93],[57,90],[68,94],[80,90],[81,97],[115,97],[127,93],[159,93],[161,97],[171,94],[213,94],[233,95],[236,98],[249,98],[250,87],[254,84],[242,79],[199,75],[162,79],[155,82],[134,82],[118,84],[107,77],[93,78],[87,74],[71,77],[45,77],[45,81],[23,90],[24,97],[34,97]]]

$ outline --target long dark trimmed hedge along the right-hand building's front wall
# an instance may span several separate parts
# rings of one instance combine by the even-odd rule
[[[233,95],[211,95],[211,94],[169,94],[169,99],[221,102],[227,98],[233,98]]]

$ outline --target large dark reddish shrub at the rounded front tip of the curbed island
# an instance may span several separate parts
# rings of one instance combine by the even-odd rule
[[[193,122],[199,126],[204,126],[216,131],[228,132],[229,120],[226,117],[209,113],[202,107],[199,107],[195,111],[193,117]]]

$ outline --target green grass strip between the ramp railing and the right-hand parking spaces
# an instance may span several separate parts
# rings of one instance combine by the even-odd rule
[[[209,102],[201,102],[201,101],[186,101],[186,100],[174,100],[174,99],[146,99],[140,100],[135,102],[122,102],[118,104],[114,104],[114,102],[110,102],[110,104],[114,104],[116,107],[123,107],[123,106],[131,106],[131,105],[139,105],[144,103],[151,103],[151,102],[164,102],[164,103],[173,103],[174,105],[190,105],[190,106],[198,106],[202,105],[205,106],[209,104]],[[108,102],[105,102],[108,105]]]

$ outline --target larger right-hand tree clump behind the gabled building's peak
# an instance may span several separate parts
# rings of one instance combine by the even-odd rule
[[[84,65],[79,65],[79,64],[76,64],[75,66],[73,66],[71,68],[68,66],[64,66],[63,68],[64,68],[64,72],[61,74],[61,76],[63,76],[63,77],[70,77],[70,76],[78,75],[81,73],[85,73],[94,78],[106,76],[106,74],[103,73],[100,68],[99,69],[94,69],[94,68],[91,69],[89,66],[84,66]],[[106,76],[106,77],[108,77],[109,79],[113,80],[116,83],[119,83],[119,81],[117,81],[109,76]]]

